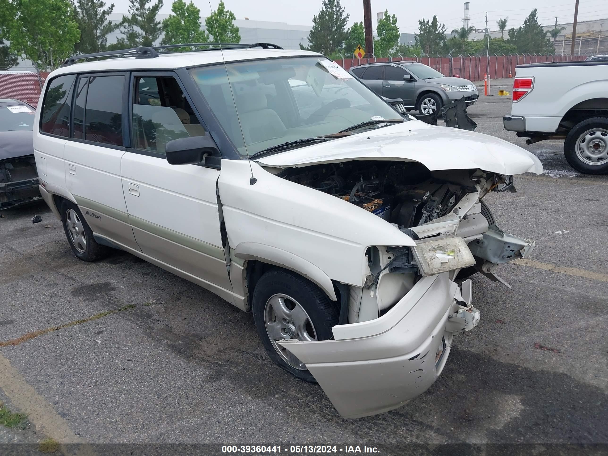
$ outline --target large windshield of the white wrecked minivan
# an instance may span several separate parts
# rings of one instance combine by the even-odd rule
[[[227,63],[227,68],[220,64],[190,73],[241,155],[246,155],[244,144],[251,156],[368,120],[402,120],[378,95],[325,57]]]

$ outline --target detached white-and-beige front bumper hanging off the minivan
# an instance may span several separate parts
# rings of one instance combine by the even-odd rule
[[[340,415],[386,412],[426,391],[446,364],[452,335],[477,325],[465,284],[461,292],[447,272],[423,277],[378,319],[334,326],[335,340],[278,343],[306,364]]]

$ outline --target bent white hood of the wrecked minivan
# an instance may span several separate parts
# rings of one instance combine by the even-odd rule
[[[269,167],[304,167],[351,160],[419,162],[431,171],[481,169],[499,174],[542,174],[536,156],[502,139],[410,120],[372,131],[260,157]]]

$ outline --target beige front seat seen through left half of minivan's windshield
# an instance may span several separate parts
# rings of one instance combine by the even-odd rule
[[[277,112],[268,109],[268,100],[262,92],[237,95],[237,108],[247,144],[285,135],[285,124]]]

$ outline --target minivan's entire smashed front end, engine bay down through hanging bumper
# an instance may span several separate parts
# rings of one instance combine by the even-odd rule
[[[393,409],[430,387],[454,334],[480,320],[471,280],[455,281],[480,272],[508,286],[496,268],[534,249],[534,241],[502,232],[482,201],[489,192],[515,192],[512,176],[429,171],[404,161],[349,161],[275,174],[371,212],[415,243],[367,247],[362,286],[340,285],[348,292],[340,295],[334,340],[278,342],[305,363],[345,417]]]

